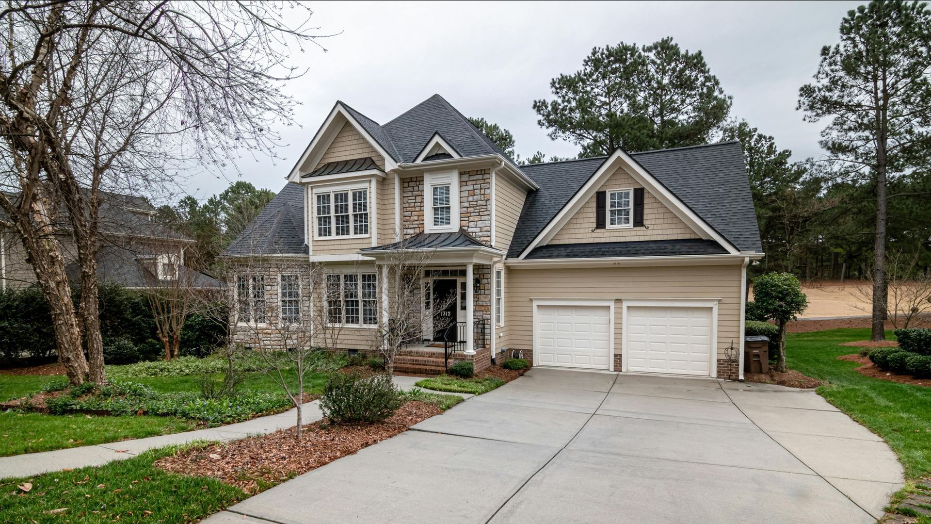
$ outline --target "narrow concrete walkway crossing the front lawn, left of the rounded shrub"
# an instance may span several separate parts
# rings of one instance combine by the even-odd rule
[[[318,421],[323,417],[318,407],[319,401],[304,404],[304,423]],[[152,448],[162,448],[174,444],[186,444],[196,440],[236,440],[254,434],[269,434],[280,429],[294,426],[297,410],[294,408],[259,417],[250,421],[236,422],[205,430],[189,431],[176,434],[162,434],[147,438],[121,440],[96,446],[56,449],[39,453],[26,453],[12,457],[0,457],[0,478],[9,476],[33,476],[62,468],[79,468],[99,466],[111,461],[128,459]]]

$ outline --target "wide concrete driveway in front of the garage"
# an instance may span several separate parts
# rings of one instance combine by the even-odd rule
[[[902,469],[812,391],[536,368],[222,522],[873,522]]]

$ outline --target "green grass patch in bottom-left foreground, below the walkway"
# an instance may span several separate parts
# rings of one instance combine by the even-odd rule
[[[195,522],[247,497],[219,480],[174,475],[152,465],[174,449],[154,449],[100,467],[0,480],[0,521]],[[24,482],[33,484],[28,492],[18,488]]]

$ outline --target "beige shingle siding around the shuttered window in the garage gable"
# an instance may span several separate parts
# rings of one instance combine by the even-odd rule
[[[618,168],[599,191],[642,187],[623,168]],[[646,228],[595,229],[595,197],[592,196],[549,241],[556,243],[610,241],[665,241],[701,238],[692,228],[647,190],[643,191],[643,225]]]

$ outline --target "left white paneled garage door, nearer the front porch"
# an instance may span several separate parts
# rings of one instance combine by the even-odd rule
[[[537,306],[537,365],[608,369],[610,309],[605,306]]]

